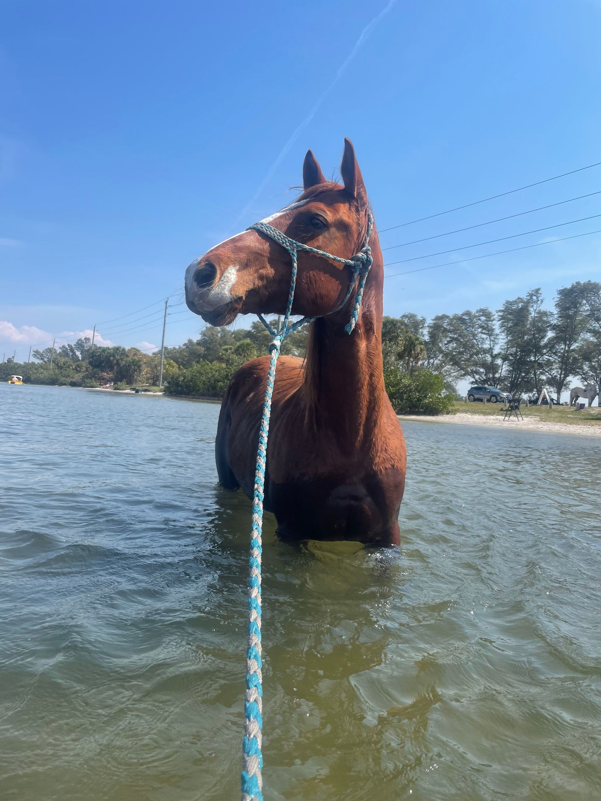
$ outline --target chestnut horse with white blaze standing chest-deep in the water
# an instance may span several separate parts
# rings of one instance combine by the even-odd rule
[[[368,199],[353,145],[345,139],[344,186],[326,181],[309,151],[302,195],[263,220],[291,239],[350,259],[365,239]],[[398,545],[405,488],[405,440],[384,388],[381,353],[384,268],[377,234],[373,265],[353,332],[345,332],[352,270],[298,253],[292,313],[317,317],[305,359],[280,356],[272,394],[264,508],[281,537]],[[288,252],[256,230],[216,245],[190,264],[186,303],[212,325],[238,314],[282,314]],[[252,497],[268,356],[244,364],[221,405],[216,437],[220,484]]]

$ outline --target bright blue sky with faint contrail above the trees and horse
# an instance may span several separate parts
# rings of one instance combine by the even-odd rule
[[[353,139],[380,228],[601,161],[600,27],[597,0],[4,0],[0,349],[25,359],[96,323],[101,342],[160,344],[149,304],[178,304],[193,258],[283,206],[308,147],[332,175]],[[595,167],[382,244],[599,190]],[[451,252],[387,272],[594,231],[601,217],[461,249],[596,214],[601,195],[397,248],[385,261]],[[391,277],[385,312],[498,308],[536,286],[551,304],[601,279],[600,249],[591,235]],[[167,344],[197,335],[172,312]]]

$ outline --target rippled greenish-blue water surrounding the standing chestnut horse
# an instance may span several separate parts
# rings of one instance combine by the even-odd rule
[[[2,799],[239,797],[250,505],[218,413],[0,384]],[[266,799],[601,798],[601,441],[404,429],[400,549],[268,516]]]

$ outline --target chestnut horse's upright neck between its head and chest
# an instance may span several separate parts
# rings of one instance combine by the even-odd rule
[[[385,395],[382,373],[382,273],[377,248],[365,284],[361,314],[345,332],[349,307],[318,318],[311,326],[305,357],[305,419],[317,433],[327,430],[342,449],[370,442],[381,419]],[[379,259],[377,255],[379,254]]]

